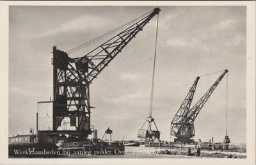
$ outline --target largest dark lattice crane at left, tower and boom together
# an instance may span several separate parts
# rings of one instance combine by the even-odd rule
[[[52,130],[40,131],[41,133],[56,136],[68,134],[78,138],[87,138],[89,134],[92,134],[90,128],[90,83],[159,12],[160,9],[155,8],[147,15],[122,26],[126,29],[80,58],[70,58],[67,52],[53,47]],[[80,45],[68,52],[74,52],[82,47],[83,45]],[[65,130],[61,126],[64,118],[70,118],[69,130]]]

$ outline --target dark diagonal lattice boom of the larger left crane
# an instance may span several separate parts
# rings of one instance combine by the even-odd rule
[[[148,22],[160,12],[159,8],[155,8],[152,13],[139,20],[129,28],[125,29],[118,35],[114,36],[107,42],[103,43],[93,51],[89,52],[81,58],[75,58],[74,61],[83,65],[88,63],[90,69],[88,73],[88,81],[92,83],[93,79],[106,67],[115,56],[124,49],[124,47],[134,38]]]

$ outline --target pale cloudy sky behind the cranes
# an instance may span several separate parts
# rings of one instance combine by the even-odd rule
[[[245,6],[10,6],[9,136],[36,127],[37,102],[52,97],[52,46],[68,51],[159,7],[152,116],[161,139],[199,75],[228,69],[195,120],[195,139],[246,142]],[[136,139],[148,117],[156,19],[90,85],[91,124],[102,138]],[[71,58],[84,56],[95,43]],[[191,106],[221,73],[201,77]],[[228,80],[228,83],[227,83]],[[228,84],[228,101],[227,101]]]

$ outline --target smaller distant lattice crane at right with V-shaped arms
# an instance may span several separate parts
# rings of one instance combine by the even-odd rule
[[[179,110],[175,114],[172,123],[171,123],[171,136],[175,136],[175,142],[182,142],[182,143],[190,143],[195,136],[195,127],[194,122],[198,113],[200,113],[202,107],[204,107],[205,102],[211,97],[212,92],[216,89],[218,84],[220,83],[221,79],[225,76],[228,70],[225,70],[220,77],[212,84],[211,88],[207,90],[207,92],[198,100],[198,102],[189,109],[193,95],[195,93],[196,84],[198,83],[199,77],[196,78],[195,83],[190,88],[187,97],[185,98],[184,102],[180,106]]]

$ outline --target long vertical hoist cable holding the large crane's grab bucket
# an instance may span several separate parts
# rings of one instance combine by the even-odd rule
[[[152,75],[152,87],[151,87],[151,95],[150,95],[149,117],[152,117],[152,107],[153,107],[154,79],[155,79],[155,68],[156,68],[156,47],[157,47],[158,20],[159,20],[159,14],[157,15],[157,25],[156,25],[156,45],[155,45],[154,66],[153,66],[153,75]]]

